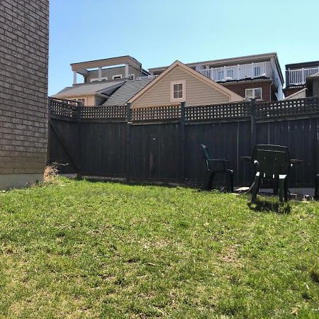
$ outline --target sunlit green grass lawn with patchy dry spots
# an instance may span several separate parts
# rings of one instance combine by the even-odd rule
[[[0,193],[0,318],[319,318],[319,203],[60,179]]]

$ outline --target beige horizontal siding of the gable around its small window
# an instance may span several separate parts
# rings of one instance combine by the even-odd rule
[[[189,72],[177,66],[164,78],[145,91],[132,103],[132,108],[147,106],[174,105],[179,102],[171,102],[170,84],[172,81],[186,81],[186,106],[197,106],[215,103],[227,103],[230,97],[218,89],[214,89],[201,79],[194,77]]]

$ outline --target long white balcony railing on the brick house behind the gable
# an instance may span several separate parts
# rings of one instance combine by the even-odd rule
[[[233,65],[231,67],[215,67],[211,69],[201,69],[199,73],[218,81],[230,81],[255,77],[271,77],[272,68],[270,62],[250,63],[248,65]]]

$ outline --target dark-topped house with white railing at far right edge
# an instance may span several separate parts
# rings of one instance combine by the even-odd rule
[[[319,61],[286,65],[286,87],[283,90],[286,98],[298,91],[306,89],[307,79],[318,72]],[[310,79],[309,81],[312,82],[313,79]],[[304,92],[306,94],[306,90],[304,90]],[[307,96],[313,96],[312,92],[308,92]]]

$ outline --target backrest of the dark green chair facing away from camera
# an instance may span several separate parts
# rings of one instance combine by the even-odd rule
[[[279,175],[288,174],[290,157],[289,152],[286,152],[286,150],[263,150],[257,147],[253,154],[254,160],[259,163],[258,171],[261,177],[278,179]]]

